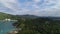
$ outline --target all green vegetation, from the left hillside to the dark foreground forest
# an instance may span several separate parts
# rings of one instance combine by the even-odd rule
[[[60,34],[60,20],[51,17],[32,17],[28,15],[0,14],[0,19],[11,18],[18,20],[13,23],[16,28],[21,28],[17,34]],[[31,17],[31,18],[30,18]]]

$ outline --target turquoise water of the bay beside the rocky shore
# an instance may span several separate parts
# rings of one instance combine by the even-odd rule
[[[13,21],[0,21],[0,34],[6,34],[7,32],[15,29],[15,27],[13,27]]]

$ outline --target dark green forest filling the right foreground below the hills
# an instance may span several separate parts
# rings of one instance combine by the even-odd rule
[[[60,20],[50,18],[18,19],[18,34],[60,34]],[[23,32],[23,33],[22,33]]]

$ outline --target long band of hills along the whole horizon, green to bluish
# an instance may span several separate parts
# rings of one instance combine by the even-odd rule
[[[6,13],[2,13],[0,12],[0,20],[1,19],[5,19],[5,18],[10,18],[10,19],[17,19],[17,18],[26,18],[26,19],[35,19],[35,18],[43,18],[43,19],[60,19],[60,17],[39,17],[39,16],[35,16],[35,15],[11,15],[11,14],[6,14]]]

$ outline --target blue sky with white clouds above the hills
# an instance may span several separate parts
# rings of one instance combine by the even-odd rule
[[[0,12],[60,17],[60,0],[0,0]]]

